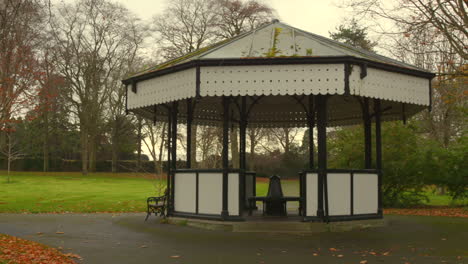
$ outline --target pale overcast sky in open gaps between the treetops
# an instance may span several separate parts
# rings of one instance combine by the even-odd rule
[[[143,19],[160,14],[166,0],[116,0]],[[278,19],[291,26],[328,37],[346,12],[335,3],[340,0],[264,0],[278,13]]]

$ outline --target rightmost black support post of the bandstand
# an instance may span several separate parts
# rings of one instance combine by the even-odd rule
[[[375,163],[378,172],[378,207],[379,214],[382,214],[382,131],[380,115],[382,113],[380,107],[380,99],[374,99],[375,112]]]

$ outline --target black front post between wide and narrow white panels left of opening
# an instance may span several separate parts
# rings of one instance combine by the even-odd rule
[[[228,212],[228,172],[229,172],[229,103],[228,97],[223,96],[223,208],[221,217],[227,219]]]

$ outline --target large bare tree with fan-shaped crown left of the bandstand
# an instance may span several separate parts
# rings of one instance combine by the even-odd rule
[[[96,143],[109,98],[122,112],[117,83],[131,67],[142,38],[139,21],[126,8],[106,0],[80,0],[50,7],[50,33],[57,69],[69,84],[66,98],[81,133],[82,172],[93,170]],[[119,92],[117,92],[119,93]]]

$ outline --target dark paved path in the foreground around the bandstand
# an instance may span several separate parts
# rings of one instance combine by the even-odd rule
[[[310,235],[209,231],[143,219],[144,214],[0,214],[0,233],[62,247],[90,264],[468,263],[466,218],[388,216],[386,227]]]

